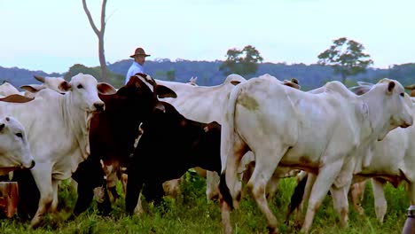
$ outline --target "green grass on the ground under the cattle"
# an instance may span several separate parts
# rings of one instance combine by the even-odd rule
[[[282,233],[296,233],[299,230],[283,223],[294,186],[294,179],[282,180],[278,193],[270,205],[281,223],[279,230]],[[207,202],[205,187],[203,178],[186,174],[186,182],[182,186],[183,194],[178,199],[165,199],[165,207],[168,207],[166,210],[145,203],[145,214],[140,217],[128,216],[124,213],[122,197],[113,205],[114,211],[109,217],[98,215],[94,203],[88,212],[74,221],[65,222],[62,220],[68,216],[67,211],[74,207],[75,195],[70,187],[64,184],[59,191],[61,211],[53,218],[52,215],[46,216],[46,222],[41,228],[30,230],[29,222],[20,222],[17,218],[3,219],[0,233],[222,233],[218,203]],[[121,188],[118,189],[121,194]],[[385,191],[388,213],[384,223],[380,224],[376,221],[372,188],[368,183],[363,202],[365,216],[358,215],[353,207],[350,207],[349,225],[341,229],[338,215],[333,210],[332,199],[327,196],[317,213],[310,233],[401,233],[409,199],[403,186],[395,189],[388,184]],[[231,219],[234,233],[268,233],[265,218],[249,195],[244,196],[239,209],[232,212]],[[56,220],[60,221],[56,222]],[[294,222],[290,221],[290,223]]]

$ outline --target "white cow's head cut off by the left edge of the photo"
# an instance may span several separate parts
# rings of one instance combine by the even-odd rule
[[[0,119],[0,172],[15,168],[33,168],[35,160],[24,127],[16,119]]]

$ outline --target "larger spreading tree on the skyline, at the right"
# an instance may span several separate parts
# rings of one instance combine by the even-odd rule
[[[334,73],[341,74],[341,82],[345,83],[348,76],[364,73],[373,64],[371,56],[363,51],[361,43],[341,37],[318,55],[318,64],[332,66]]]

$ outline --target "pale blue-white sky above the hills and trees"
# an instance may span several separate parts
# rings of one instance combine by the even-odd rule
[[[101,0],[87,0],[99,28]],[[155,58],[225,59],[247,44],[264,62],[317,62],[345,36],[374,67],[415,62],[414,0],[107,0],[106,61],[141,46]],[[98,66],[82,0],[0,0],[0,66],[47,73]]]

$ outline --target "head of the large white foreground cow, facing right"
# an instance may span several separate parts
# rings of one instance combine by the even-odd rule
[[[397,127],[406,128],[412,125],[412,101],[404,92],[401,83],[385,78],[373,86],[368,93],[371,92],[380,94],[380,96],[375,96],[377,98],[382,97],[382,106],[380,106],[382,111],[369,114],[375,116],[377,120],[381,120],[381,118],[384,118],[382,121],[388,120],[388,126],[385,126],[380,132],[379,140],[382,140],[392,129]]]

